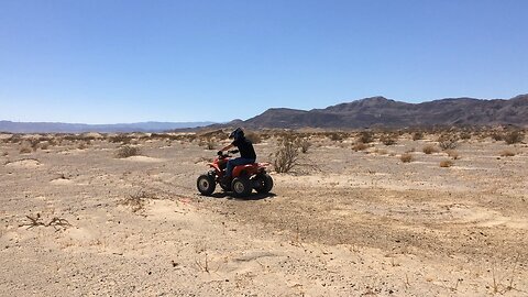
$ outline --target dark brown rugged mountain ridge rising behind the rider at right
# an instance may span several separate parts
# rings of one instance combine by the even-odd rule
[[[251,129],[495,124],[528,127],[528,95],[508,100],[449,98],[422,103],[406,103],[384,97],[372,97],[309,111],[272,108],[237,124]]]

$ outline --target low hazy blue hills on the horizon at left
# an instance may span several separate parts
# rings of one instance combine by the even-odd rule
[[[141,122],[119,124],[82,124],[0,121],[0,131],[11,133],[162,132],[175,129],[198,128],[210,124],[213,124],[213,122]]]

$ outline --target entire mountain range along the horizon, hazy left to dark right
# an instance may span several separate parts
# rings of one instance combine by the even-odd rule
[[[249,129],[362,129],[432,125],[506,125],[528,128],[528,95],[510,99],[448,98],[407,103],[371,97],[324,109],[272,108],[245,121],[142,122],[77,124],[0,121],[0,131],[12,133],[162,132],[195,128],[244,127]]]

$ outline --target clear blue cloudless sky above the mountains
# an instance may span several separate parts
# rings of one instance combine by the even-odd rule
[[[526,0],[0,0],[0,120],[228,121],[528,92]]]

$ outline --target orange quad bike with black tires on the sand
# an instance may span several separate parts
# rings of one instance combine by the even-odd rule
[[[239,151],[229,151],[228,153],[235,154]],[[273,179],[266,173],[266,167],[270,163],[252,163],[248,165],[240,165],[233,168],[232,180],[226,180],[226,167],[229,154],[220,153],[212,163],[208,163],[211,169],[198,177],[196,186],[201,195],[210,196],[217,186],[224,191],[233,191],[237,197],[246,197],[253,189],[257,193],[266,194],[273,188]]]

